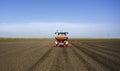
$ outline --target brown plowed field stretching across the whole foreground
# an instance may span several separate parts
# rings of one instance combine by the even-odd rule
[[[120,71],[120,39],[0,40],[0,71]]]

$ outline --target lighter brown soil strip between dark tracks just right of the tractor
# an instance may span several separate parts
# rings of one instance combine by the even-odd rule
[[[87,71],[109,71],[108,69],[102,68],[102,66],[97,62],[94,61],[91,56],[88,56],[88,54],[84,53],[82,50],[79,50],[76,45],[72,44],[73,51],[75,55],[81,60],[81,62],[84,64],[84,67],[87,69]]]

